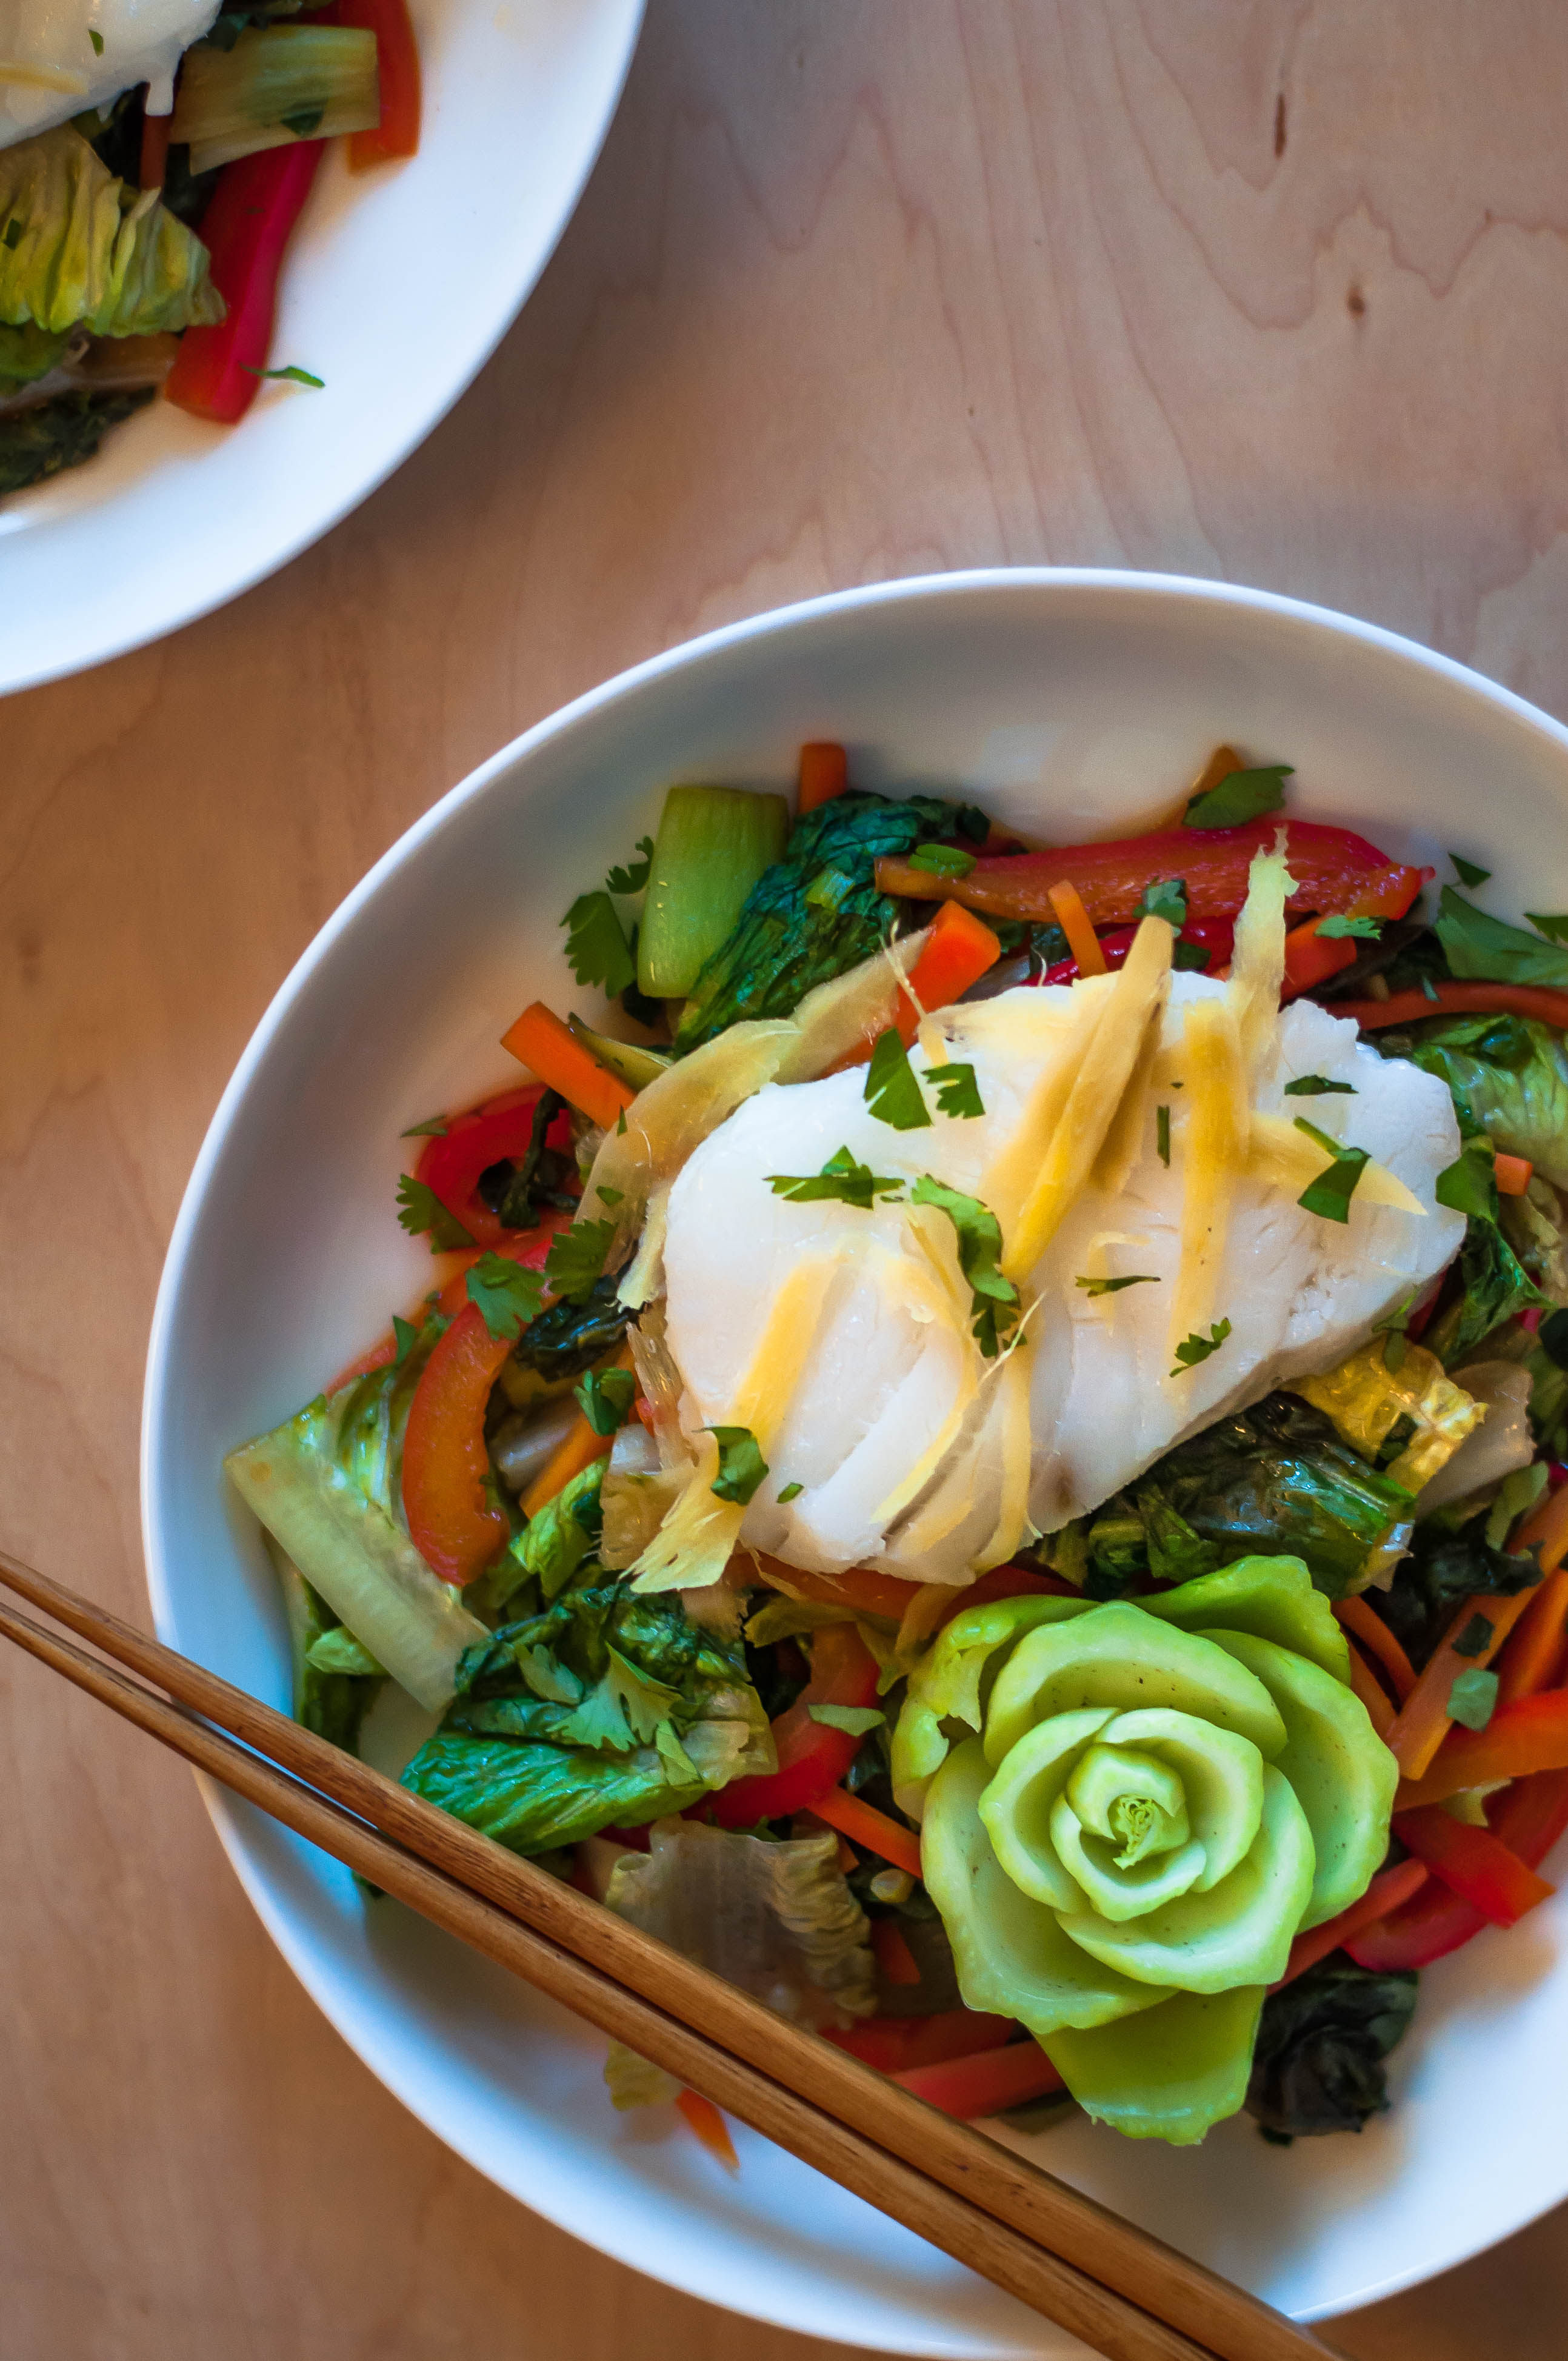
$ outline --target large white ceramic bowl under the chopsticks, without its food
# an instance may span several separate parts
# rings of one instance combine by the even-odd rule
[[[439,803],[279,992],[224,1093],[170,1244],[146,1379],[161,1634],[286,1705],[283,1617],[220,1459],[385,1327],[427,1270],[392,1214],[397,1133],[503,1084],[496,1036],[581,999],[557,918],[652,826],[671,779],[784,786],[801,739],[862,786],[961,789],[1072,841],[1141,824],[1219,739],[1296,765],[1292,800],[1391,852],[1568,902],[1568,732],[1440,656],[1289,600],[1133,574],[895,583],[760,616],[581,699]],[[1445,871],[1448,874],[1448,871]],[[576,2236],[737,2311],[900,2354],[1067,2340],[741,2132],[739,2182],[619,2120],[602,2045],[224,1799],[262,1919],[366,2064],[442,2139]],[[1507,2236],[1568,2193],[1568,1896],[1431,1969],[1360,2139],[1197,2151],[1074,2123],[1032,2153],[1275,2304],[1318,2319]]]

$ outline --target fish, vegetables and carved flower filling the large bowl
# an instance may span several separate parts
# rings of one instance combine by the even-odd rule
[[[1568,918],[1287,777],[671,789],[609,1015],[406,1133],[435,1284],[227,1461],[300,1719],[406,1693],[409,1787],[952,2113],[1360,2130],[1551,1894]]]

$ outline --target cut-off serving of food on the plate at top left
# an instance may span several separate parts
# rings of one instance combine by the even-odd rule
[[[153,399],[239,420],[326,139],[418,146],[406,0],[0,0],[0,493]]]

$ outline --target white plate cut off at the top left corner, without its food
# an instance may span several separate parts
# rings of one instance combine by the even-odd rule
[[[85,467],[0,503],[0,694],[177,630],[338,524],[446,416],[543,272],[600,151],[642,0],[411,0],[420,151],[328,149],[239,427],[151,401]]]

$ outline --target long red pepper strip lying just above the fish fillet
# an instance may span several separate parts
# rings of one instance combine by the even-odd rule
[[[1063,845],[1056,852],[982,855],[961,878],[940,878],[904,862],[876,864],[883,892],[916,902],[963,902],[992,918],[1053,918],[1051,885],[1077,885],[1093,926],[1131,926],[1145,885],[1185,878],[1190,918],[1235,918],[1247,900],[1254,852],[1268,852],[1285,826],[1296,890],[1292,916],[1346,909],[1389,855],[1351,829],[1313,819],[1249,819],[1244,829],[1157,829],[1108,845]]]

